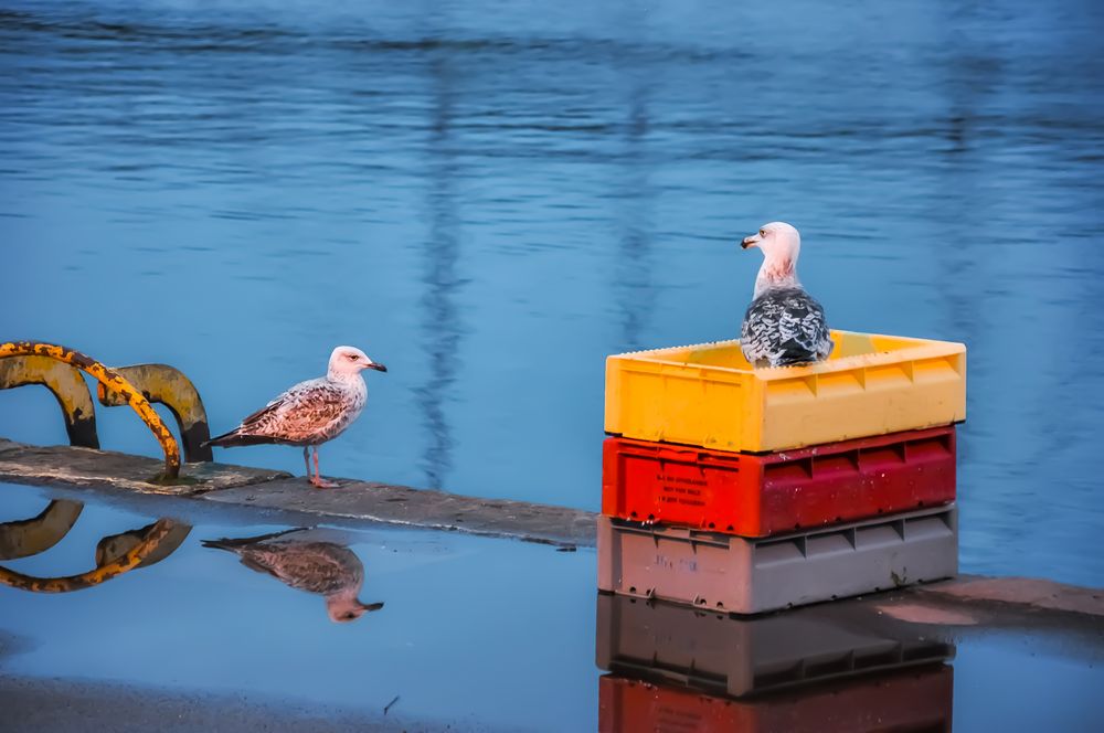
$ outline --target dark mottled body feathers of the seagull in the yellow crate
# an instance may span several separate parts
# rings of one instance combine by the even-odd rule
[[[747,307],[740,349],[754,366],[794,366],[832,350],[825,310],[800,287],[772,288]]]

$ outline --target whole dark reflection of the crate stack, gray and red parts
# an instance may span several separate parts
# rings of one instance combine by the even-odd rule
[[[598,596],[603,732],[951,731],[949,635],[821,605],[736,619]]]

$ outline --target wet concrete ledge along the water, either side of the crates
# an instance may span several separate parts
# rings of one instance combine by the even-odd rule
[[[227,508],[263,508],[310,514],[349,524],[386,522],[436,530],[512,538],[559,546],[593,546],[596,514],[524,501],[480,499],[351,479],[339,488],[316,489],[305,478],[224,464],[185,464],[189,482],[179,487],[147,479],[161,461],[121,453],[70,446],[38,447],[0,438],[0,481],[121,489],[176,495]],[[155,499],[150,501],[173,501]],[[1098,633],[1104,591],[1021,577],[962,575],[952,581],[870,596],[884,613],[915,623],[951,626],[1090,624]]]

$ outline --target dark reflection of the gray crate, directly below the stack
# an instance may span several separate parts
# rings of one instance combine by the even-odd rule
[[[744,697],[954,658],[930,628],[830,606],[735,618],[598,593],[599,669]]]

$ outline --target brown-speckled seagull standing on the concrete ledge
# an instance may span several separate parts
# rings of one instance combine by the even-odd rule
[[[360,416],[368,402],[368,386],[360,375],[365,369],[388,371],[360,349],[338,347],[330,354],[326,376],[299,382],[229,433],[203,445],[231,448],[240,445],[302,446],[307,478],[320,489],[337,486],[318,471],[318,446],[341,435]],[[315,449],[315,472],[310,472],[310,449]]]

